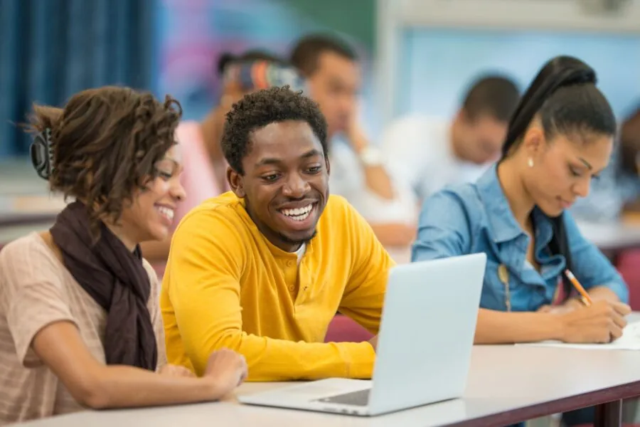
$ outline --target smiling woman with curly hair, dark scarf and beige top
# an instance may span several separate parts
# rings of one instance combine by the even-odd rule
[[[166,364],[159,283],[139,243],[166,237],[184,197],[180,117],[169,96],[117,87],[34,107],[34,167],[73,201],[0,253],[0,424],[212,401],[245,378],[228,350],[201,378]]]

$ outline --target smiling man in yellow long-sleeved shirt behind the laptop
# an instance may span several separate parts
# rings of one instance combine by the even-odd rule
[[[394,265],[366,221],[329,196],[326,122],[285,88],[228,114],[232,191],[193,209],[171,242],[161,295],[169,363],[202,374],[223,347],[249,380],[370,378],[372,342],[325,343],[337,311],[377,334]]]

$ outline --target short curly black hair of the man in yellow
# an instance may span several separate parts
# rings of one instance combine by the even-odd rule
[[[290,90],[289,86],[274,86],[245,95],[227,113],[221,144],[229,166],[244,175],[242,159],[251,149],[251,133],[285,120],[309,123],[327,158],[326,120],[318,104],[302,92]]]

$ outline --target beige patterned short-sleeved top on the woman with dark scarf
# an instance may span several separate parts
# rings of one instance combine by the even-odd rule
[[[105,363],[102,339],[107,312],[78,284],[38,233],[0,251],[0,426],[83,408],[31,349],[36,333],[60,320],[73,322],[93,356]],[[166,361],[158,295],[151,265],[149,312],[158,341],[158,365]]]

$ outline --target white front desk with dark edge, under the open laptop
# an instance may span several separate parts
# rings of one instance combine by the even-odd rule
[[[282,383],[245,384],[238,394]],[[476,346],[463,399],[373,418],[228,401],[164,408],[86,411],[25,423],[33,427],[428,427],[498,426],[640,395],[640,352]],[[619,406],[609,405],[613,420]],[[607,424],[603,424],[607,425]],[[609,423],[608,425],[618,425]]]

